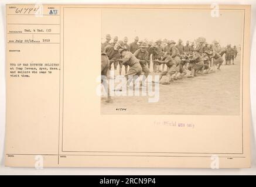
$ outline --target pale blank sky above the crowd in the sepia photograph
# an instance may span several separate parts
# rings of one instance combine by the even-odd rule
[[[219,18],[211,17],[210,10],[173,9],[104,9],[101,13],[101,37],[106,34],[118,39],[134,37],[144,40],[179,38],[186,43],[197,37],[205,37],[208,43],[214,39],[221,46],[230,43],[239,46],[243,37],[243,11],[220,10]],[[112,41],[112,40],[111,40]]]

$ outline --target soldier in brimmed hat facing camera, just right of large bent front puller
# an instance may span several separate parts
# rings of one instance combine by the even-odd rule
[[[138,58],[139,63],[142,67],[142,72],[144,72],[143,78],[142,78],[142,85],[145,85],[145,80],[148,77],[149,69],[146,66],[146,64],[149,61],[148,51],[146,51],[146,43],[142,43],[141,46],[139,46],[139,49],[135,51],[134,56]]]

